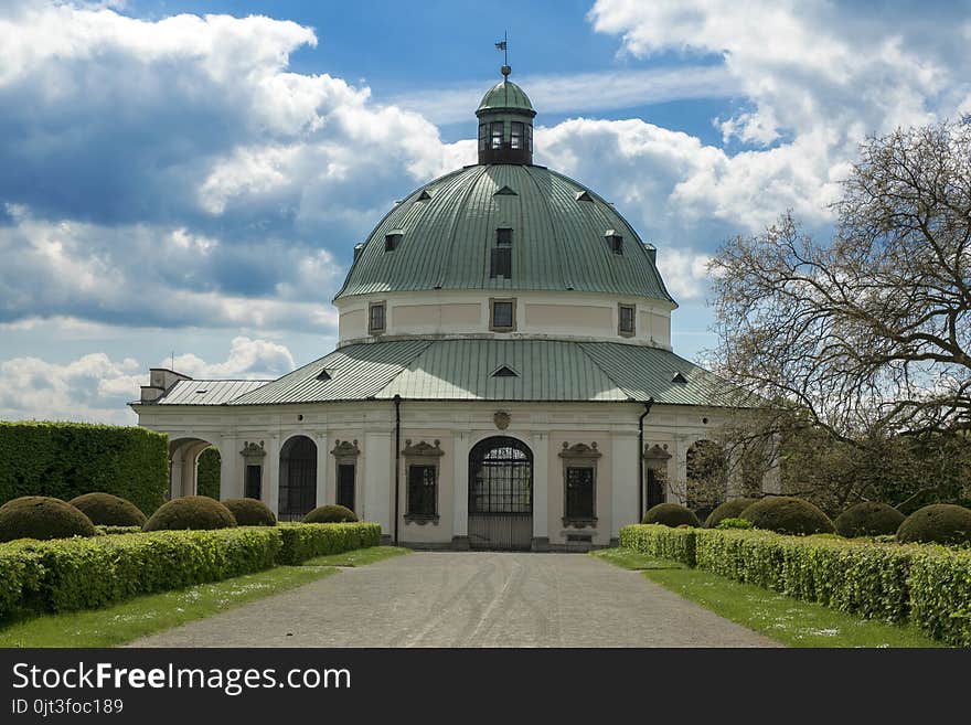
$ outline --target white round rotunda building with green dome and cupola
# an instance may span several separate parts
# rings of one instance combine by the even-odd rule
[[[533,163],[536,111],[508,76],[476,111],[478,163],[354,247],[333,352],[275,381],[151,371],[132,407],[170,437],[172,497],[215,446],[221,497],[282,520],[341,503],[406,545],[545,551],[741,493],[727,476],[693,493],[692,454],[735,408],[672,350],[655,248]]]

